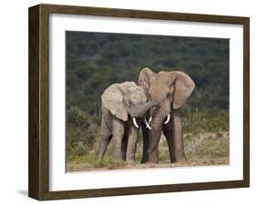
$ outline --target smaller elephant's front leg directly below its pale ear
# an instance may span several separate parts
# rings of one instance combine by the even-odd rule
[[[115,160],[122,160],[122,142],[124,136],[124,122],[118,118],[113,120],[113,156]]]

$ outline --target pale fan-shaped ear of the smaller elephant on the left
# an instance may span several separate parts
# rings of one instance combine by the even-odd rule
[[[128,112],[123,102],[123,93],[118,83],[110,85],[101,95],[102,104],[118,119],[128,121]]]

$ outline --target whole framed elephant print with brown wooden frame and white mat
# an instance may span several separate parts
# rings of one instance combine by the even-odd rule
[[[250,19],[29,8],[29,196],[250,186]]]

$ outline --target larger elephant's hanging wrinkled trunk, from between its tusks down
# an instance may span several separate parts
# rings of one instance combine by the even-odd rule
[[[155,119],[153,118],[152,125],[151,125],[152,136],[149,139],[148,153],[155,151],[159,145],[161,132],[162,132],[162,124],[164,119],[165,118],[161,116],[158,116]]]

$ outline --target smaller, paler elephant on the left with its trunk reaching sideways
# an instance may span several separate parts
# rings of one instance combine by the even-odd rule
[[[101,95],[102,122],[101,139],[97,159],[102,160],[108,143],[113,138],[113,157],[115,160],[135,161],[138,126],[145,113],[157,102],[147,102],[144,89],[133,82],[110,85]]]

